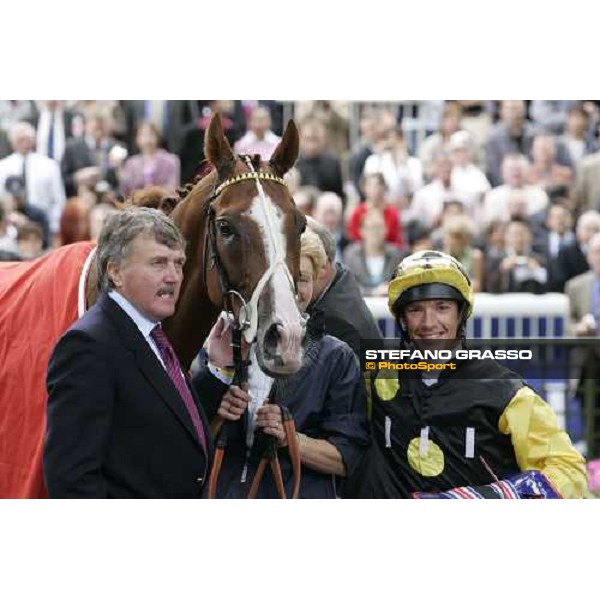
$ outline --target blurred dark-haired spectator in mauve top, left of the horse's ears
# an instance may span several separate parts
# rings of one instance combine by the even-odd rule
[[[130,156],[120,173],[121,191],[160,185],[175,193],[180,183],[179,157],[160,148],[160,135],[153,123],[142,122],[135,137],[139,154]]]

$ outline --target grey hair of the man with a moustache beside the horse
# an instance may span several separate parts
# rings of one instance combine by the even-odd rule
[[[98,238],[96,265],[98,289],[113,289],[108,276],[110,263],[122,264],[128,257],[133,241],[140,235],[154,236],[159,244],[185,250],[186,241],[173,221],[156,208],[127,208],[109,215]]]

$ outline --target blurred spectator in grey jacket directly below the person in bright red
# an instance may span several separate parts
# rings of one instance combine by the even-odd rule
[[[344,250],[344,264],[352,271],[365,296],[386,296],[388,281],[401,252],[385,241],[385,218],[380,209],[371,208],[360,223],[361,241]]]

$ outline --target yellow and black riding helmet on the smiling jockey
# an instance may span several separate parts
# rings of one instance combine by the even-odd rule
[[[456,300],[462,329],[473,313],[473,286],[463,266],[437,250],[407,256],[397,267],[388,288],[388,306],[400,322],[402,309],[417,300]]]

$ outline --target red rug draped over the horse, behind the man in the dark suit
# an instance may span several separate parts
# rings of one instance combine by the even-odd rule
[[[46,370],[60,336],[85,310],[94,246],[0,262],[0,498],[46,496]]]

